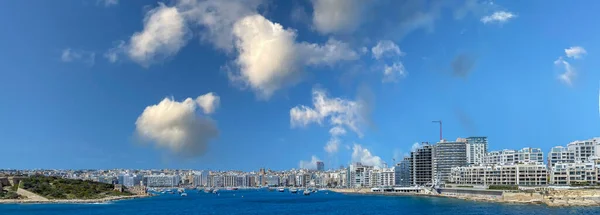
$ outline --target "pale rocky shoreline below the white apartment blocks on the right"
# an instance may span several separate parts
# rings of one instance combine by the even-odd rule
[[[455,195],[455,194],[430,194],[430,193],[395,193],[372,192],[370,189],[329,189],[330,191],[351,195],[381,195],[381,196],[420,196],[454,198],[475,202],[493,202],[502,204],[535,204],[549,207],[598,207],[600,206],[600,190],[566,190],[555,191],[550,194],[540,193],[514,193],[506,192],[501,196],[488,195]]]

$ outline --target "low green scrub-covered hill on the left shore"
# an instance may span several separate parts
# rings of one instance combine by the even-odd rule
[[[100,199],[132,195],[127,191],[115,191],[112,184],[49,176],[31,176],[23,179],[19,187],[48,199]]]

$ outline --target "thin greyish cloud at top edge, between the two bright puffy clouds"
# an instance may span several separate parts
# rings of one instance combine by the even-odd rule
[[[177,8],[189,22],[203,27],[203,41],[231,53],[234,50],[233,25],[246,16],[257,14],[263,0],[179,0]]]

